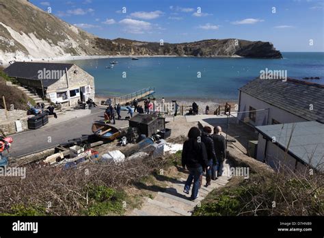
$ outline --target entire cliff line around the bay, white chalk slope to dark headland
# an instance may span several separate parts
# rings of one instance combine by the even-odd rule
[[[237,44],[236,44],[237,43]],[[179,55],[280,58],[269,42],[202,40],[180,44],[98,38],[25,0],[0,0],[0,61],[64,55]]]

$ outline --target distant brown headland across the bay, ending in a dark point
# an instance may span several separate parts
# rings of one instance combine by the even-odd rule
[[[281,58],[280,51],[275,50],[269,42],[252,42],[248,40],[202,40],[198,42],[169,44],[163,46],[158,42],[138,42],[118,38],[105,40],[96,38],[96,49],[109,55],[179,55],[196,57],[256,57]]]

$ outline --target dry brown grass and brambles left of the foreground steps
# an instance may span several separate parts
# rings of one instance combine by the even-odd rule
[[[26,178],[0,178],[0,213],[14,213],[13,208],[44,212],[49,215],[81,215],[89,205],[93,187],[122,189],[161,166],[161,159],[144,158],[124,163],[88,163],[79,168],[27,168]],[[14,213],[16,215],[16,213]]]

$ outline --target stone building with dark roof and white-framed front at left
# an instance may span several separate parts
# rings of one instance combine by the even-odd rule
[[[76,64],[15,62],[4,71],[29,90],[62,107],[94,99],[94,77]]]

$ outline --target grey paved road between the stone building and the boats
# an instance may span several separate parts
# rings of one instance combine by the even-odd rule
[[[84,111],[88,112],[85,114]],[[11,135],[14,143],[10,148],[10,157],[22,157],[46,148],[53,148],[83,135],[91,135],[92,123],[103,120],[104,111],[105,107],[94,107],[91,109],[91,114],[90,110],[69,111],[69,115],[58,115],[57,119],[49,118],[49,124],[40,129]],[[122,111],[122,118],[125,116],[126,112]],[[124,127],[128,124],[128,120],[116,120],[116,127]]]

